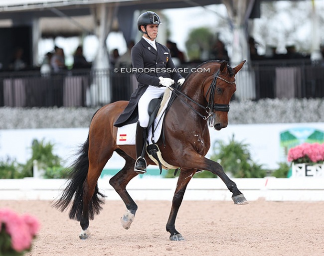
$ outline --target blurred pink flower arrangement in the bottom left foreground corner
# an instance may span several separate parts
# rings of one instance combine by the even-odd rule
[[[28,215],[19,216],[9,209],[0,209],[0,255],[19,256],[31,248],[39,230],[38,221]]]

